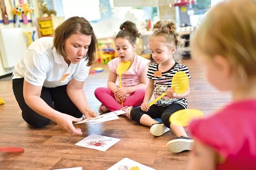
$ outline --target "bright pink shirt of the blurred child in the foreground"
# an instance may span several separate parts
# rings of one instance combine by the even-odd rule
[[[256,169],[256,99],[234,102],[190,124],[193,136],[225,158],[217,169]]]

